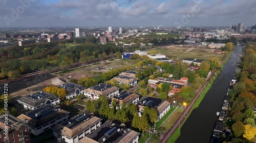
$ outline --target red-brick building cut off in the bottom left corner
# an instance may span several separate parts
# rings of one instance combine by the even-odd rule
[[[24,121],[19,120],[10,114],[4,113],[0,115],[0,142],[30,143],[31,141],[29,134],[29,127],[24,124]]]

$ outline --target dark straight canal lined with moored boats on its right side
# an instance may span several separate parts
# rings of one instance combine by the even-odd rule
[[[224,65],[223,71],[217,76],[199,107],[193,110],[182,126],[181,135],[176,140],[176,143],[210,142],[215,122],[218,121],[216,112],[221,110],[229,82],[233,77],[242,49],[243,46],[237,46],[234,50]]]

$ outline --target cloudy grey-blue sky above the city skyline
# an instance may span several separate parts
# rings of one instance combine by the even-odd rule
[[[0,27],[256,24],[255,0],[0,0]]]

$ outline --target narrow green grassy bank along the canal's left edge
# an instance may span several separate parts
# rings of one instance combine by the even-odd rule
[[[237,46],[236,46],[237,47]],[[190,116],[191,112],[195,109],[198,108],[200,103],[202,102],[202,100],[204,99],[205,95],[207,94],[207,92],[209,91],[209,89],[212,86],[212,83],[214,83],[215,79],[217,78],[217,76],[220,74],[220,72],[222,71],[224,65],[226,64],[226,62],[229,60],[230,56],[232,55],[233,51],[236,49],[236,47],[234,47],[234,49],[232,51],[230,51],[228,53],[228,55],[226,56],[226,58],[224,59],[224,61],[222,61],[222,66],[215,72],[215,75],[211,78],[211,80],[209,81],[209,83],[207,84],[207,86],[205,87],[205,89],[203,90],[203,92],[201,93],[201,95],[198,97],[197,101],[195,102],[195,104],[193,105],[193,109],[191,109],[188,113],[188,115],[186,116],[186,118],[183,120],[183,122],[180,124],[179,128],[173,133],[172,136],[170,136],[168,142],[169,143],[174,143],[178,137],[180,136],[180,132],[181,132],[181,127],[183,126],[183,124],[186,122],[186,120],[188,119],[188,117]]]

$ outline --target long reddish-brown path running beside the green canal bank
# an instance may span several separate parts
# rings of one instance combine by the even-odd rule
[[[220,63],[220,65],[222,66],[223,63],[227,60],[229,54],[231,53],[231,51],[226,55],[225,59]],[[214,72],[211,73],[211,75],[209,76],[209,78],[206,80],[205,84],[203,85],[203,87],[199,90],[199,92],[197,93],[196,97],[193,98],[193,100],[189,103],[189,105],[185,108],[185,110],[182,112],[182,115],[180,116],[179,120],[177,120],[174,123],[174,126],[172,128],[170,128],[162,137],[162,139],[160,140],[160,143],[164,142],[166,143],[169,139],[170,136],[172,136],[174,134],[174,132],[180,127],[180,124],[185,120],[185,118],[187,117],[188,113],[193,109],[193,106],[195,104],[195,102],[197,101],[198,97],[202,94],[202,92],[204,91],[204,89],[206,88],[206,86],[209,84],[209,82],[211,81],[212,77],[214,77],[215,73],[217,72],[218,69],[215,69]]]

